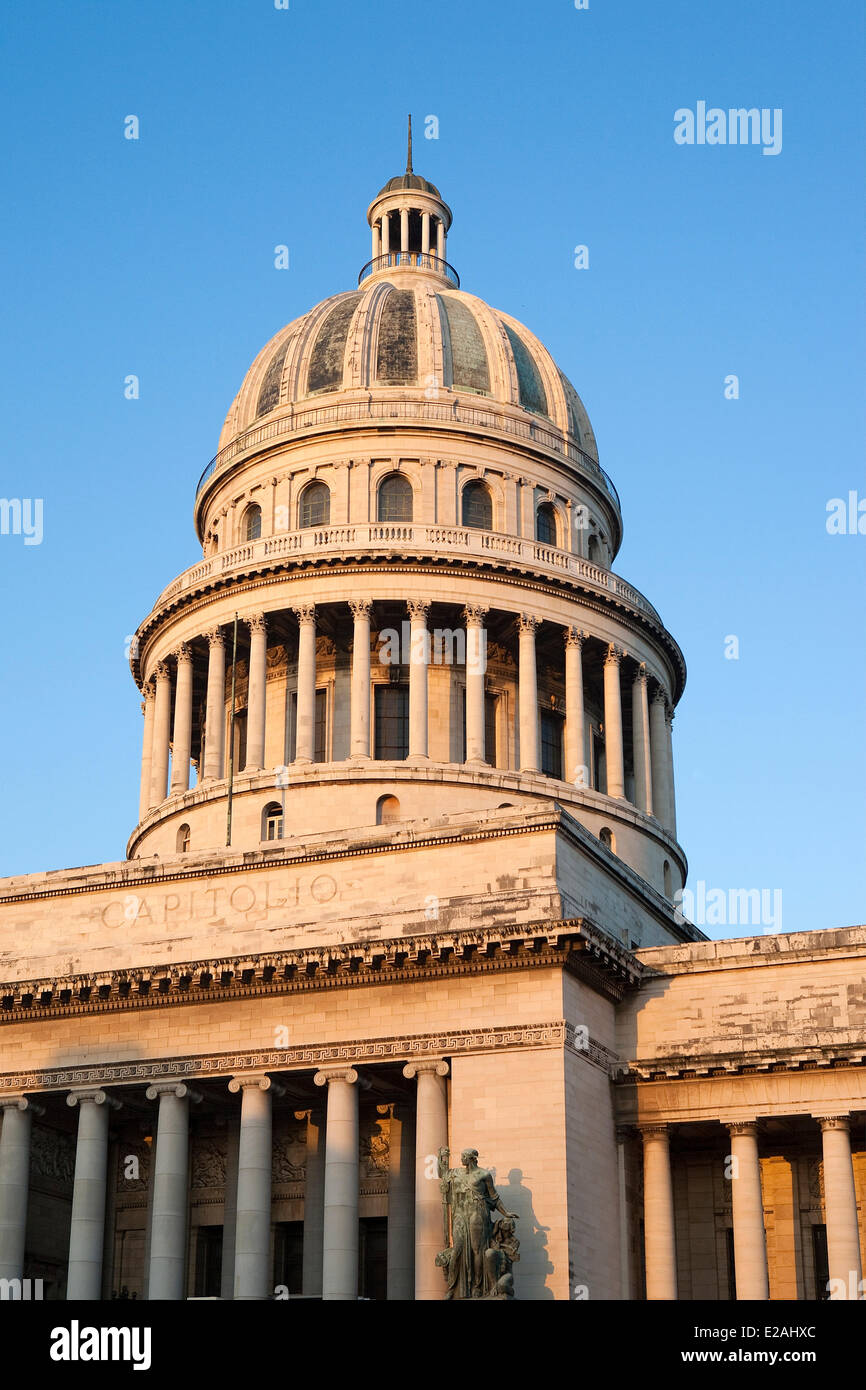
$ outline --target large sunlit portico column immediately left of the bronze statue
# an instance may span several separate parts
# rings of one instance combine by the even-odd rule
[[[445,1280],[436,1268],[442,1250],[442,1194],[436,1155],[448,1148],[448,1062],[421,1058],[403,1068],[417,1077],[416,1098],[416,1301],[442,1298]]]

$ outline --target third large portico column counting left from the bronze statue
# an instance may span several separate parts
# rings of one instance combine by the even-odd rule
[[[271,1088],[270,1076],[250,1072],[228,1083],[240,1091],[238,1197],[235,1205],[234,1298],[267,1298],[271,1289]],[[282,1087],[275,1087],[282,1094]]]

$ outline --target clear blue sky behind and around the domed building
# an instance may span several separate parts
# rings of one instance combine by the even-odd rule
[[[577,385],[616,570],[685,652],[689,881],[781,890],[784,930],[862,922],[866,537],[826,528],[866,498],[862,7],[13,0],[0,26],[0,492],[44,507],[40,545],[0,537],[0,873],[122,858],[126,634],[195,563],[253,356],[354,284],[411,111],[449,259]],[[781,108],[781,153],[676,145],[699,100]]]

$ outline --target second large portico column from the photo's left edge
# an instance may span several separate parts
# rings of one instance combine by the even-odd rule
[[[97,1300],[103,1291],[108,1113],[120,1109],[120,1104],[99,1087],[83,1087],[70,1091],[67,1105],[78,1106],[67,1275],[67,1300],[75,1302]]]

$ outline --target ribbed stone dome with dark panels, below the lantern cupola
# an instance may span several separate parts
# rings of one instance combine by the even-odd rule
[[[271,338],[232,403],[220,449],[302,402],[402,389],[510,406],[567,434],[598,463],[577,391],[528,328],[438,275],[399,268],[324,299]]]

